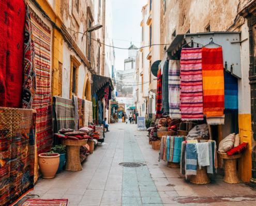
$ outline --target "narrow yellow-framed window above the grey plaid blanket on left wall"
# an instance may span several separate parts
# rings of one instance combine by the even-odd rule
[[[74,56],[70,56],[70,98],[78,95],[78,72],[81,63]]]

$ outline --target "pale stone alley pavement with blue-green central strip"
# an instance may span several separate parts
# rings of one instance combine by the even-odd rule
[[[179,169],[158,162],[158,151],[148,144],[147,132],[136,131],[136,125],[116,123],[110,130],[106,144],[87,158],[82,171],[40,179],[31,194],[68,198],[69,206],[256,204],[256,191],[243,183],[224,183],[221,176],[212,177],[207,185],[186,182]],[[146,165],[131,168],[119,165],[122,162]]]

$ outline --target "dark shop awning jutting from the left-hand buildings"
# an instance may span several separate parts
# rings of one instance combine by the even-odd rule
[[[92,92],[97,93],[100,90],[104,90],[106,87],[110,87],[111,90],[114,90],[111,78],[93,74]]]

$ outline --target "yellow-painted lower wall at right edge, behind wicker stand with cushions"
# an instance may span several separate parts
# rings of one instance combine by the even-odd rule
[[[239,178],[244,182],[249,182],[251,178],[251,150],[252,150],[252,136],[251,136],[251,115],[238,114],[238,126],[240,143],[248,142],[248,147],[243,156],[238,160]]]

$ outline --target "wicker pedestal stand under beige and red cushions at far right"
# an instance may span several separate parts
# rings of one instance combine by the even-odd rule
[[[227,153],[218,152],[220,158],[224,161],[224,182],[236,184],[239,183],[240,180],[237,176],[236,170],[236,159],[241,157],[241,154],[238,155],[227,155]]]

